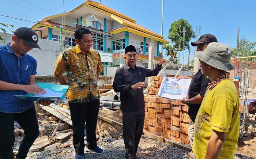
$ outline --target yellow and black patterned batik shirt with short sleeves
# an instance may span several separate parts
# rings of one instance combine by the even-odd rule
[[[84,103],[99,99],[97,72],[103,71],[101,57],[91,49],[86,55],[78,45],[63,50],[56,61],[53,74],[62,75],[67,71],[67,99],[71,103]]]

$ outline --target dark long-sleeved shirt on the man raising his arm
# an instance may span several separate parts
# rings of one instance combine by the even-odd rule
[[[122,111],[141,111],[144,110],[143,88],[132,90],[131,86],[138,82],[144,82],[145,77],[156,76],[161,70],[162,65],[157,65],[155,69],[136,67],[133,69],[125,65],[117,69],[113,82],[115,92],[120,92]]]

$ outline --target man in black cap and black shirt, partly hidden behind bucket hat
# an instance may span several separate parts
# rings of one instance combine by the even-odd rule
[[[191,42],[192,46],[197,46],[197,51],[203,51],[206,49],[207,45],[211,42],[218,42],[217,38],[212,34],[202,35],[198,41]],[[180,76],[177,79],[191,79],[190,77]],[[196,114],[199,110],[199,107],[203,101],[204,93],[208,86],[210,79],[204,76],[201,72],[201,69],[197,71],[197,73],[192,77],[189,90],[188,90],[188,98],[184,97],[181,102],[187,104],[188,107],[188,115],[191,118],[190,125],[188,128],[188,137],[191,147],[193,146],[193,138],[194,138],[194,123],[196,119]]]

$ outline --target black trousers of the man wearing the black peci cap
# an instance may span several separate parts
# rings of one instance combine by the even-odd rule
[[[140,137],[143,132],[145,111],[123,111],[123,136],[129,159],[136,157]]]

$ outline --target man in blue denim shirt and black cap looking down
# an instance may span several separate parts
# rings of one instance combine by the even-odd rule
[[[14,121],[25,131],[16,159],[25,159],[29,148],[37,139],[39,130],[33,101],[13,95],[45,93],[35,85],[37,61],[27,54],[37,44],[37,34],[30,28],[18,28],[12,42],[0,46],[0,159],[14,159]],[[41,102],[49,105],[49,101]]]

